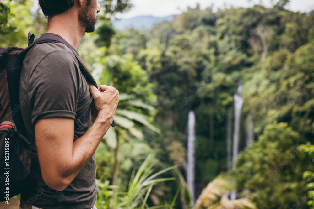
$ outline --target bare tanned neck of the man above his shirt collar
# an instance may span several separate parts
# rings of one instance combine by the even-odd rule
[[[73,17],[76,15],[65,12],[49,18],[46,33],[58,34],[77,49],[85,32],[80,30],[78,18],[73,19]]]

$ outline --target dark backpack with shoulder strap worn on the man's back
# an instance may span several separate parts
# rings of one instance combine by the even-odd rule
[[[97,83],[89,70],[84,65],[77,50],[59,36],[45,35],[35,39],[35,35],[28,34],[28,47],[18,48],[7,46],[0,48],[0,201],[8,201],[25,188],[36,182],[36,169],[39,161],[35,144],[28,140],[24,128],[19,101],[19,80],[23,60],[27,52],[36,44],[55,42],[67,45],[76,56],[80,71],[86,80],[96,86]],[[93,97],[81,111],[77,112],[75,120],[76,132],[89,115]],[[112,127],[116,124],[112,121]],[[66,198],[62,191],[56,191],[57,201],[62,202]]]

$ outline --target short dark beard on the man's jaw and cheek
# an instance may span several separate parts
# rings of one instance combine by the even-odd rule
[[[82,32],[92,33],[96,29],[97,16],[95,17],[93,8],[91,7],[90,0],[86,4],[86,7],[78,15],[78,24]]]

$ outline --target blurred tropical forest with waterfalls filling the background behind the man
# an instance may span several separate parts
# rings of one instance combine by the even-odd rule
[[[97,208],[314,208],[314,12],[197,5],[116,29],[132,0],[98,3],[78,52],[119,104],[96,150]],[[46,29],[35,0],[0,2],[1,47]]]

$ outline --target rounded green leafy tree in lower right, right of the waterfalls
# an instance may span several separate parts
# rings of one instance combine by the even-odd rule
[[[257,142],[249,145],[237,158],[237,187],[259,208],[287,208],[302,203],[306,193],[302,173],[313,171],[312,159],[298,149],[300,135],[287,123],[267,125]]]

